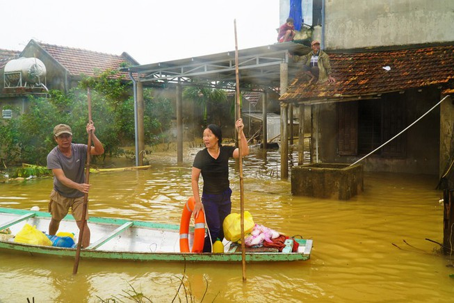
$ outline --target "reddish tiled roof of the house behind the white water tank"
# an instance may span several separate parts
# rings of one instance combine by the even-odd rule
[[[61,47],[42,42],[35,43],[47,51],[52,58],[58,61],[60,65],[63,65],[63,67],[65,67],[74,76],[79,76],[80,74],[95,76],[95,72],[97,70],[104,71],[106,69],[117,69],[120,68],[124,62],[129,65],[138,65],[138,62],[133,60],[126,53],[123,53],[121,56],[117,56],[99,53],[97,51],[88,51],[86,49]],[[120,74],[127,76],[127,73],[125,72],[121,72]],[[129,77],[127,79],[129,79]]]

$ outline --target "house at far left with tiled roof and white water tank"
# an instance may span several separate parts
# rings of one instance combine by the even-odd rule
[[[29,95],[45,95],[51,89],[67,92],[76,87],[83,76],[138,64],[126,52],[117,56],[32,39],[20,52],[0,50],[0,108],[2,113],[5,110],[9,113],[5,108],[19,106],[24,113]],[[31,73],[37,74],[37,69],[39,77],[31,77]],[[118,76],[129,81],[125,72]],[[3,119],[10,117],[3,116]]]

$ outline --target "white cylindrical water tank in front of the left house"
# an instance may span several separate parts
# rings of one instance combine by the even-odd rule
[[[14,78],[22,74],[22,81],[27,83],[40,84],[46,76],[46,66],[37,58],[18,58],[10,60],[5,65],[5,76]],[[10,79],[13,80],[13,79]]]

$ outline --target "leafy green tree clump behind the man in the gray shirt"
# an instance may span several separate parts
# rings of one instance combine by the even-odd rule
[[[64,123],[72,127],[73,142],[87,140],[87,89],[91,90],[92,120],[97,137],[106,154],[116,156],[122,144],[134,142],[134,113],[131,88],[120,79],[111,79],[115,72],[107,71],[81,81],[78,88],[67,94],[51,90],[50,97],[30,97],[29,110],[19,117],[0,124],[0,157],[12,163],[45,165],[47,154],[56,146],[53,129]],[[19,113],[17,108],[15,113]],[[16,115],[16,116],[17,116]],[[166,99],[154,99],[145,90],[145,140],[153,144],[168,136],[172,107]]]

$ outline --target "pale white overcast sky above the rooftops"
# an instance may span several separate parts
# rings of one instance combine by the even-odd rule
[[[141,65],[276,42],[279,0],[1,1],[0,49],[31,39],[120,55]]]

